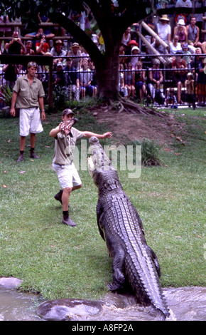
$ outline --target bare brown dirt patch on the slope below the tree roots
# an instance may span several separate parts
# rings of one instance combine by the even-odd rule
[[[133,114],[129,112],[117,113],[112,110],[104,111],[104,108],[92,110],[97,123],[107,125],[109,131],[115,134],[117,140],[122,143],[129,140],[154,140],[159,144],[170,145],[173,143],[175,133],[182,128],[174,115],[161,112],[163,117],[156,115]]]

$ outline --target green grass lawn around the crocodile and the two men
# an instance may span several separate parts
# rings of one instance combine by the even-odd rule
[[[158,256],[161,284],[205,286],[204,110],[175,114],[185,124],[184,145],[174,140],[170,151],[161,150],[165,165],[142,168],[136,180],[128,178],[128,171],[119,177]],[[99,128],[90,113],[78,118],[80,130],[109,130]],[[45,299],[98,299],[112,281],[112,262],[97,228],[97,188],[88,171],[80,170],[82,189],[70,198],[77,227],[61,224],[62,207],[53,198],[60,187],[51,167],[54,140],[48,136],[59,122],[59,115],[48,115],[37,135],[40,160],[31,160],[26,146],[25,161],[16,163],[18,118],[0,118],[0,277],[23,279],[23,290],[40,292]],[[107,144],[114,140],[115,134]]]

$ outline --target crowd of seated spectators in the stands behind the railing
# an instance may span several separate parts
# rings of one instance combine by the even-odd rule
[[[171,0],[166,6],[195,9],[205,3]],[[70,13],[83,30],[90,29],[89,15]],[[0,61],[4,60],[0,63],[0,108],[5,106],[5,88],[12,91],[18,76],[26,74],[26,66],[16,61],[21,56],[52,59],[52,68],[40,62],[36,73],[43,83],[45,99],[51,87],[53,94],[63,90],[67,100],[96,96],[94,62],[69,32],[40,13],[34,26],[21,19],[11,21],[9,16],[0,19]],[[101,34],[90,32],[97,47],[104,48]],[[10,56],[8,63],[5,55]],[[144,105],[206,105],[205,14],[195,14],[194,10],[194,14],[153,16],[128,27],[119,49],[119,93]]]

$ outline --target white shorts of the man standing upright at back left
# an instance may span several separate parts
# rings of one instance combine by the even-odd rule
[[[19,132],[21,136],[28,136],[29,133],[41,133],[43,127],[40,121],[38,107],[21,108],[19,112]]]

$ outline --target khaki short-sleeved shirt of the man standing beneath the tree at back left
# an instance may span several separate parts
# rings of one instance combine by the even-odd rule
[[[38,98],[45,96],[41,81],[34,77],[30,85],[27,74],[17,78],[13,91],[18,93],[16,108],[38,107]]]

